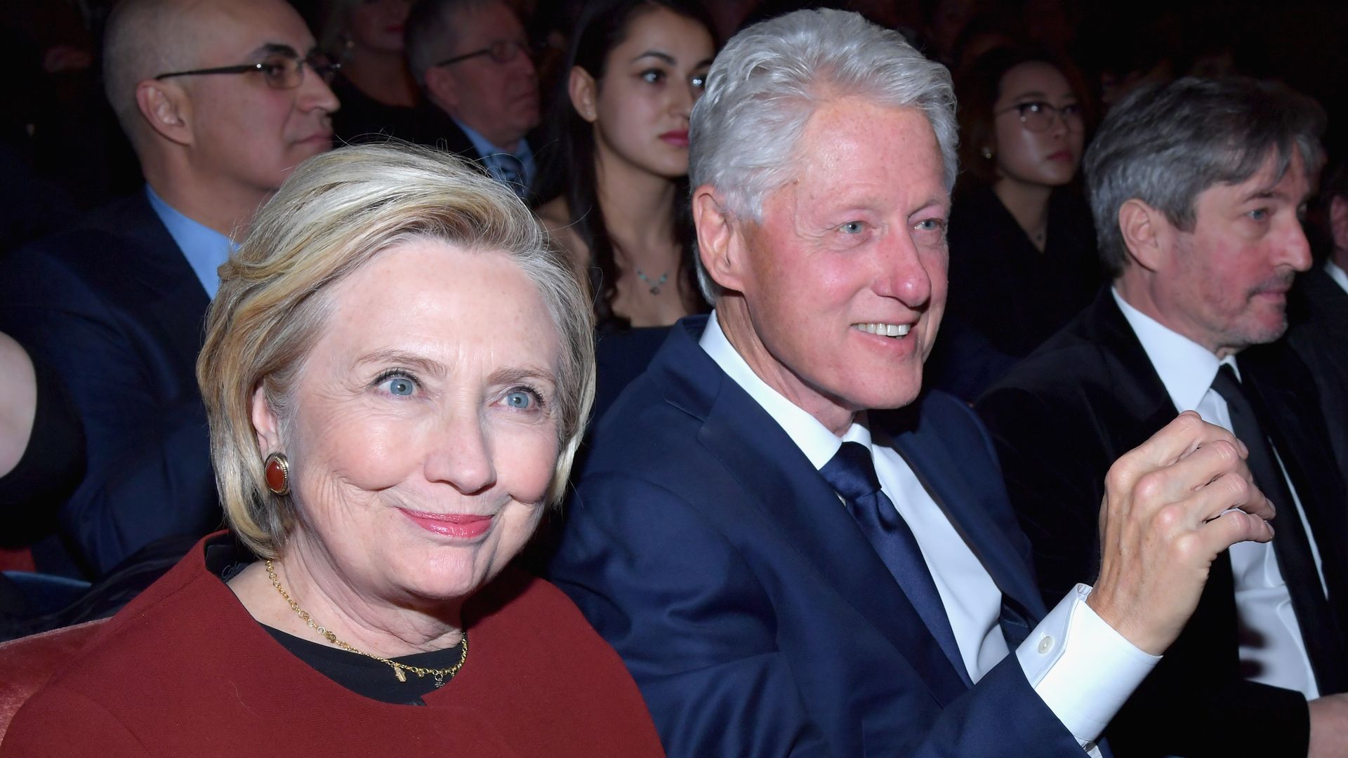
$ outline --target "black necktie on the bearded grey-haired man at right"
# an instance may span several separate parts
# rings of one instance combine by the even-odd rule
[[[1278,518],[1273,522],[1273,549],[1287,581],[1291,610],[1297,614],[1297,624],[1301,627],[1301,638],[1306,645],[1316,684],[1324,693],[1339,692],[1345,678],[1345,661],[1336,641],[1333,615],[1320,584],[1310,540],[1291,499],[1291,490],[1287,488],[1287,477],[1283,476],[1274,457],[1273,445],[1264,436],[1254,406],[1229,364],[1223,364],[1217,371],[1212,388],[1227,401],[1231,430],[1250,449],[1246,463],[1255,477],[1255,484],[1278,508]]]

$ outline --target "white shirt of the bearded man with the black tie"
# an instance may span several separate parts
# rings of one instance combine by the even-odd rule
[[[1161,376],[1161,383],[1166,386],[1170,401],[1175,405],[1175,413],[1196,410],[1208,424],[1215,424],[1231,430],[1231,411],[1227,401],[1220,392],[1212,388],[1212,380],[1217,376],[1221,364],[1228,364],[1240,376],[1233,356],[1219,360],[1208,348],[1184,337],[1169,328],[1161,325],[1150,316],[1128,305],[1119,291],[1113,291],[1113,299],[1123,310],[1123,317],[1128,320],[1132,332],[1142,343],[1142,349],[1147,352],[1151,366]],[[1274,450],[1278,456],[1278,452]],[[1310,541],[1310,553],[1316,560],[1316,572],[1320,573],[1321,589],[1324,589],[1324,569],[1320,566],[1320,550],[1316,548],[1314,534],[1310,523],[1306,522],[1301,508],[1301,498],[1297,488],[1287,479],[1287,472],[1278,459],[1283,479],[1287,480],[1287,490],[1291,492],[1295,506],[1295,518],[1301,519],[1306,537]],[[1282,503],[1274,503],[1281,507]],[[1286,515],[1285,515],[1286,514]],[[1286,508],[1279,511],[1279,518],[1293,518]],[[1278,568],[1278,557],[1271,542],[1237,542],[1231,546],[1231,572],[1236,585],[1236,616],[1244,631],[1240,634],[1240,661],[1256,672],[1248,677],[1252,681],[1295,689],[1308,699],[1320,695],[1316,687],[1316,676],[1310,668],[1310,658],[1306,655],[1306,645],[1301,638],[1301,624],[1291,608],[1291,595],[1287,592],[1287,583]],[[1328,591],[1325,591],[1328,595]]]

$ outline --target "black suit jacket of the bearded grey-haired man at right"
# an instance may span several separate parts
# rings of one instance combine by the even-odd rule
[[[1240,355],[1243,383],[1274,411],[1263,428],[1308,508],[1333,592],[1348,571],[1341,484],[1325,455],[1313,392],[1308,401],[1279,388],[1301,387],[1293,376],[1305,368],[1289,360],[1285,345],[1270,351]],[[1092,581],[1105,472],[1178,414],[1109,290],[993,386],[977,410],[1034,545],[1043,595]],[[1223,553],[1184,634],[1105,731],[1115,753],[1302,758],[1305,697],[1244,680],[1236,635],[1231,561]]]

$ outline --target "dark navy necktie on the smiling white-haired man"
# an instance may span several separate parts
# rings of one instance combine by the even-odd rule
[[[909,602],[922,616],[922,622],[936,637],[945,657],[965,682],[971,682],[954,642],[950,619],[945,615],[945,604],[937,592],[922,550],[913,537],[907,522],[894,508],[894,502],[880,491],[880,479],[875,475],[871,450],[860,442],[842,442],[838,452],[820,469],[824,480],[847,500],[848,511],[856,519],[865,538],[884,561],[884,565],[909,596]]]

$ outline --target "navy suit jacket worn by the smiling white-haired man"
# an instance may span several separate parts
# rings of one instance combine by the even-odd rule
[[[553,580],[627,661],[673,757],[1070,755],[1008,655],[969,689],[805,453],[677,324],[594,432]],[[1003,592],[1045,610],[991,444],[936,394],[876,413]]]

